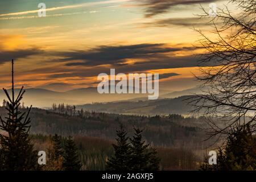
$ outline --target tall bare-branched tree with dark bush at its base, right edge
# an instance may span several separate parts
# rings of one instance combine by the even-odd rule
[[[217,8],[214,15],[202,7],[200,18],[209,18],[215,36],[197,30],[202,36],[199,48],[205,49],[202,75],[197,77],[204,93],[191,103],[209,118],[209,138],[228,136],[217,165],[210,166],[206,160],[201,169],[255,169],[256,1],[229,3],[237,6],[236,14],[228,6]]]

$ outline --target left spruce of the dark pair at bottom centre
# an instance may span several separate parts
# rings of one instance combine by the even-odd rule
[[[131,169],[131,148],[129,137],[123,125],[117,130],[117,144],[113,144],[115,154],[108,160],[106,169],[127,171]]]

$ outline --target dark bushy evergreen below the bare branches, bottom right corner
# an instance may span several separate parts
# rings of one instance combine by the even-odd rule
[[[200,169],[207,171],[256,170],[256,136],[251,133],[250,127],[243,125],[232,130],[224,149],[218,150],[217,164],[210,165],[205,158]]]

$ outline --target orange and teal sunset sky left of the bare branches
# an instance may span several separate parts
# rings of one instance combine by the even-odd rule
[[[38,16],[38,4],[46,16]],[[210,32],[200,5],[213,0],[0,1],[0,85],[65,91],[97,86],[100,73],[159,73],[159,89],[199,84],[196,48]],[[232,6],[232,5],[229,5]],[[193,73],[193,74],[192,74]]]

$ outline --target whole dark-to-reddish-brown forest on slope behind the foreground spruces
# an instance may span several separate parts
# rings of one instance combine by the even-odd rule
[[[20,106],[20,111],[27,112],[28,108]],[[5,107],[0,107],[0,114],[7,114]],[[199,168],[205,148],[211,144],[210,141],[203,141],[205,132],[196,127],[204,123],[203,117],[96,113],[76,110],[76,107],[65,104],[53,104],[49,110],[32,108],[30,117],[31,138],[36,150],[47,151],[51,144],[50,136],[58,134],[64,140],[71,135],[78,148],[81,169],[86,170],[105,169],[106,159],[114,152],[112,143],[115,143],[115,131],[120,123],[125,125],[129,136],[134,126],[143,129],[143,139],[156,147],[161,159],[160,169],[164,170]]]

